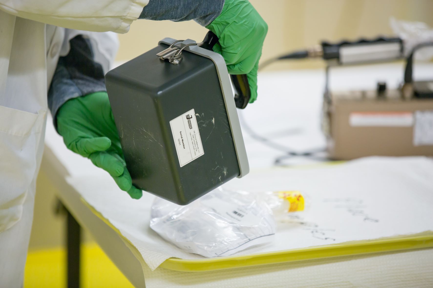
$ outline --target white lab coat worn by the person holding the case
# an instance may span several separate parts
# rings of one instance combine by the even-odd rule
[[[69,39],[86,34],[107,69],[116,37],[95,32],[127,32],[148,1],[0,0],[0,288],[23,285],[47,92],[59,55],[68,54]]]

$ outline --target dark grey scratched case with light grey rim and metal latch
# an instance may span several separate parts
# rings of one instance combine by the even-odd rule
[[[183,47],[188,41],[195,43],[188,39],[175,46]],[[186,205],[247,174],[249,166],[222,57],[188,46],[182,62],[173,65],[156,56],[172,42],[164,39],[108,72],[105,80],[132,183]],[[181,143],[170,121],[191,109],[195,113],[187,118],[196,119],[204,154],[181,167],[176,150]]]

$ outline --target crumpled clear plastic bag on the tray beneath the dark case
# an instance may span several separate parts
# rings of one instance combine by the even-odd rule
[[[218,188],[186,206],[156,197],[150,227],[187,252],[228,256],[269,242],[275,220],[255,193]]]

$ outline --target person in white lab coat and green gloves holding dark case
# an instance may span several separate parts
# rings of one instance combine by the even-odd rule
[[[229,73],[247,74],[255,100],[267,25],[248,0],[148,2],[0,0],[0,288],[23,285],[48,108],[69,149],[141,196],[103,83],[117,50],[113,32],[126,33],[139,18],[194,19],[220,38],[214,51]]]

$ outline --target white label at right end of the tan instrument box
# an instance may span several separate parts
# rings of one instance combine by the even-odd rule
[[[416,111],[414,146],[433,145],[433,110]]]

